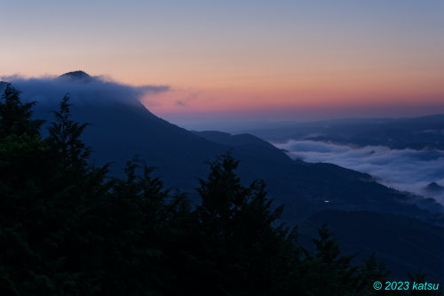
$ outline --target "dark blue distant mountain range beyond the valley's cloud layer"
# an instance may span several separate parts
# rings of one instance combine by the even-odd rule
[[[357,146],[444,149],[444,115],[414,118],[339,119],[283,124],[249,132],[272,141],[319,140]]]

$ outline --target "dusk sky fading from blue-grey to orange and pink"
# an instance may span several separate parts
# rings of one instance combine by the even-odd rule
[[[0,76],[170,85],[173,123],[444,113],[444,1],[1,1]]]

